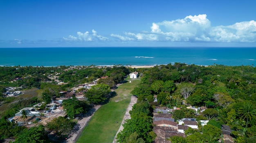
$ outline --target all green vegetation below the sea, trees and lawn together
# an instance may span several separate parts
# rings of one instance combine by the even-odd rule
[[[237,143],[256,142],[255,67],[216,64],[205,67],[175,63],[173,65],[157,65],[153,68],[136,70],[142,75],[141,82],[135,84],[137,85],[136,87],[130,84],[130,87],[120,88],[120,86],[117,88],[116,84],[123,83],[124,77],[130,72],[134,72],[135,69],[119,65],[113,68],[98,68],[93,65],[88,67],[0,67],[0,112],[2,117],[0,122],[0,139],[14,136],[20,140],[22,139],[22,137],[19,137],[21,132],[28,135],[31,134],[30,131],[23,131],[24,128],[6,121],[6,119],[12,117],[20,109],[33,106],[39,102],[49,103],[53,97],[61,96],[59,94],[61,90],[69,91],[72,87],[77,87],[79,84],[92,82],[102,76],[108,76],[108,78],[101,78],[97,86],[93,86],[85,93],[90,103],[107,104],[95,113],[95,119],[93,117],[92,123],[89,123],[86,127],[88,129],[85,129],[87,137],[81,137],[83,141],[112,142],[113,136],[115,136],[120,126],[122,115],[124,115],[125,109],[130,102],[128,98],[131,95],[136,95],[138,102],[130,112],[132,118],[127,120],[129,124],[125,124],[126,129],[124,130],[126,132],[123,131],[118,135],[119,142],[133,143],[137,141],[139,143],[149,143],[153,141],[155,134],[152,132],[151,116],[154,106],[180,107],[180,111],[173,113],[175,119],[197,117],[198,120],[209,120],[209,124],[204,127],[187,133],[188,136],[185,138],[187,143],[218,141],[221,138],[220,125],[222,124],[230,126],[232,130],[231,136],[236,139]],[[66,84],[58,85],[57,81],[65,82]],[[126,83],[126,85],[129,85],[129,83]],[[40,89],[35,89],[36,92],[33,94],[25,93],[17,98],[6,98],[2,94],[5,92],[6,87],[20,87],[20,90],[26,89],[26,91],[34,87]],[[110,94],[110,88],[117,88],[116,94],[115,92]],[[128,93],[125,94],[128,96],[123,94],[126,91],[120,91],[119,93],[119,89],[126,89]],[[81,90],[85,92],[84,89]],[[154,102],[154,96],[157,96],[157,102]],[[67,100],[63,104],[66,106],[64,108],[70,119],[73,119],[80,113],[85,113],[88,109],[85,102],[78,102],[76,100]],[[185,108],[186,106],[206,106],[208,109],[201,115],[195,116],[191,109]],[[98,115],[97,119],[100,118],[104,121],[101,121],[101,124],[96,119],[98,113],[102,115]],[[75,123],[65,118],[58,120],[59,123],[64,123],[63,125],[65,125],[66,130],[56,126],[57,121],[55,121],[55,124],[47,124],[47,130],[54,131],[58,136],[66,137]],[[110,126],[104,127],[102,122]],[[145,130],[140,130],[135,128],[135,126]],[[132,129],[132,132],[127,129],[129,127]],[[107,133],[103,133],[102,130],[99,131],[99,128],[106,130]],[[35,134],[37,132],[43,134],[42,132],[44,132],[41,129],[32,129],[32,131]],[[95,134],[99,138],[95,139]],[[101,137],[104,139],[101,139]],[[20,141],[22,142],[23,140]],[[38,141],[47,141],[47,139],[38,135]],[[173,137],[171,141],[184,140]]]

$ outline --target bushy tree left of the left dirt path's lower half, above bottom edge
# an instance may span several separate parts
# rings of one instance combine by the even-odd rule
[[[46,128],[49,131],[53,131],[56,136],[67,137],[74,128],[75,124],[76,123],[74,121],[59,116],[58,118],[54,118],[51,122],[49,122],[46,125]]]

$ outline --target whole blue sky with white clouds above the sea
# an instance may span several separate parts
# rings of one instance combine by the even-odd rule
[[[0,0],[4,47],[256,47],[256,0]]]

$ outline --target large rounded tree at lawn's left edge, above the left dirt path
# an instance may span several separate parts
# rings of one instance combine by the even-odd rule
[[[85,93],[85,97],[92,104],[99,104],[104,102],[110,93],[110,87],[105,84],[94,85]]]

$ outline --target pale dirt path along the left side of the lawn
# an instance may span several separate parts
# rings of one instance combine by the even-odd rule
[[[70,134],[70,137],[67,140],[65,140],[63,143],[75,143],[79,135],[81,134],[83,128],[88,124],[91,117],[94,115],[94,112],[97,111],[100,107],[101,105],[97,105],[97,106],[94,106],[91,110],[89,110],[86,113],[86,117],[84,117],[83,119],[77,122],[78,130],[73,130],[73,132]]]

